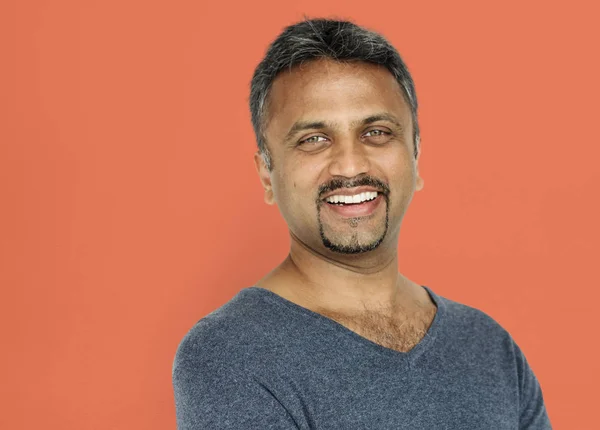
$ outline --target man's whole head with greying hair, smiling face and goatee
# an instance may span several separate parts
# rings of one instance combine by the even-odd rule
[[[265,200],[293,236],[344,254],[395,246],[422,179],[414,84],[383,37],[343,21],[286,28],[256,68],[250,109]]]

